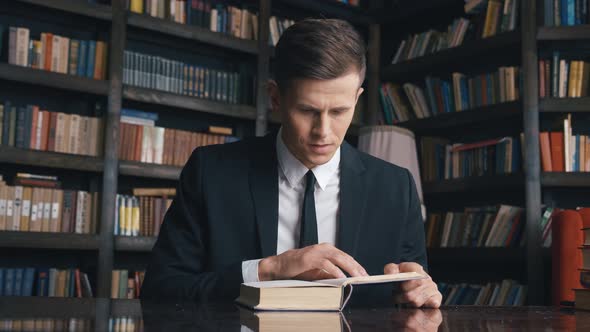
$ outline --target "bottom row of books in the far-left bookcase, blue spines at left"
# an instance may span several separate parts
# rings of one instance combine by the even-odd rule
[[[92,297],[79,269],[0,268],[0,296]]]

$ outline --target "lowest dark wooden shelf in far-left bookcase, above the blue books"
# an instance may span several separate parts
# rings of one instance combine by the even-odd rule
[[[96,250],[98,235],[1,231],[0,247]]]

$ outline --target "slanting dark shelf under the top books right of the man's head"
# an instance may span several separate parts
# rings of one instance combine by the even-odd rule
[[[385,66],[381,72],[382,80],[406,80],[408,76],[423,76],[429,74],[437,67],[448,68],[450,71],[459,68],[450,65],[471,63],[468,61],[476,56],[482,56],[492,50],[506,49],[519,50],[515,47],[520,44],[520,32],[510,31],[493,37],[467,42],[461,46],[448,48],[433,54],[428,54],[415,59],[402,61]],[[451,70],[452,69],[452,70]]]

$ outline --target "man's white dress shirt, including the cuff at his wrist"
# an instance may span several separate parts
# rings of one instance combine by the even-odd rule
[[[297,248],[301,229],[301,210],[305,193],[305,167],[289,151],[283,141],[282,129],[277,135],[277,159],[279,173],[279,224],[277,255]],[[340,148],[330,161],[312,169],[316,178],[314,188],[319,243],[336,244],[338,207],[340,202]],[[260,259],[242,262],[244,282],[258,280]]]

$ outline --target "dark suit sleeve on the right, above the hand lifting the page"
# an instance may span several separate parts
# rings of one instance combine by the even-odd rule
[[[402,237],[402,262],[416,262],[424,270],[428,271],[426,259],[426,244],[424,240],[424,221],[422,219],[422,207],[416,183],[412,173],[406,171],[408,177],[409,206],[405,225],[405,233]]]

